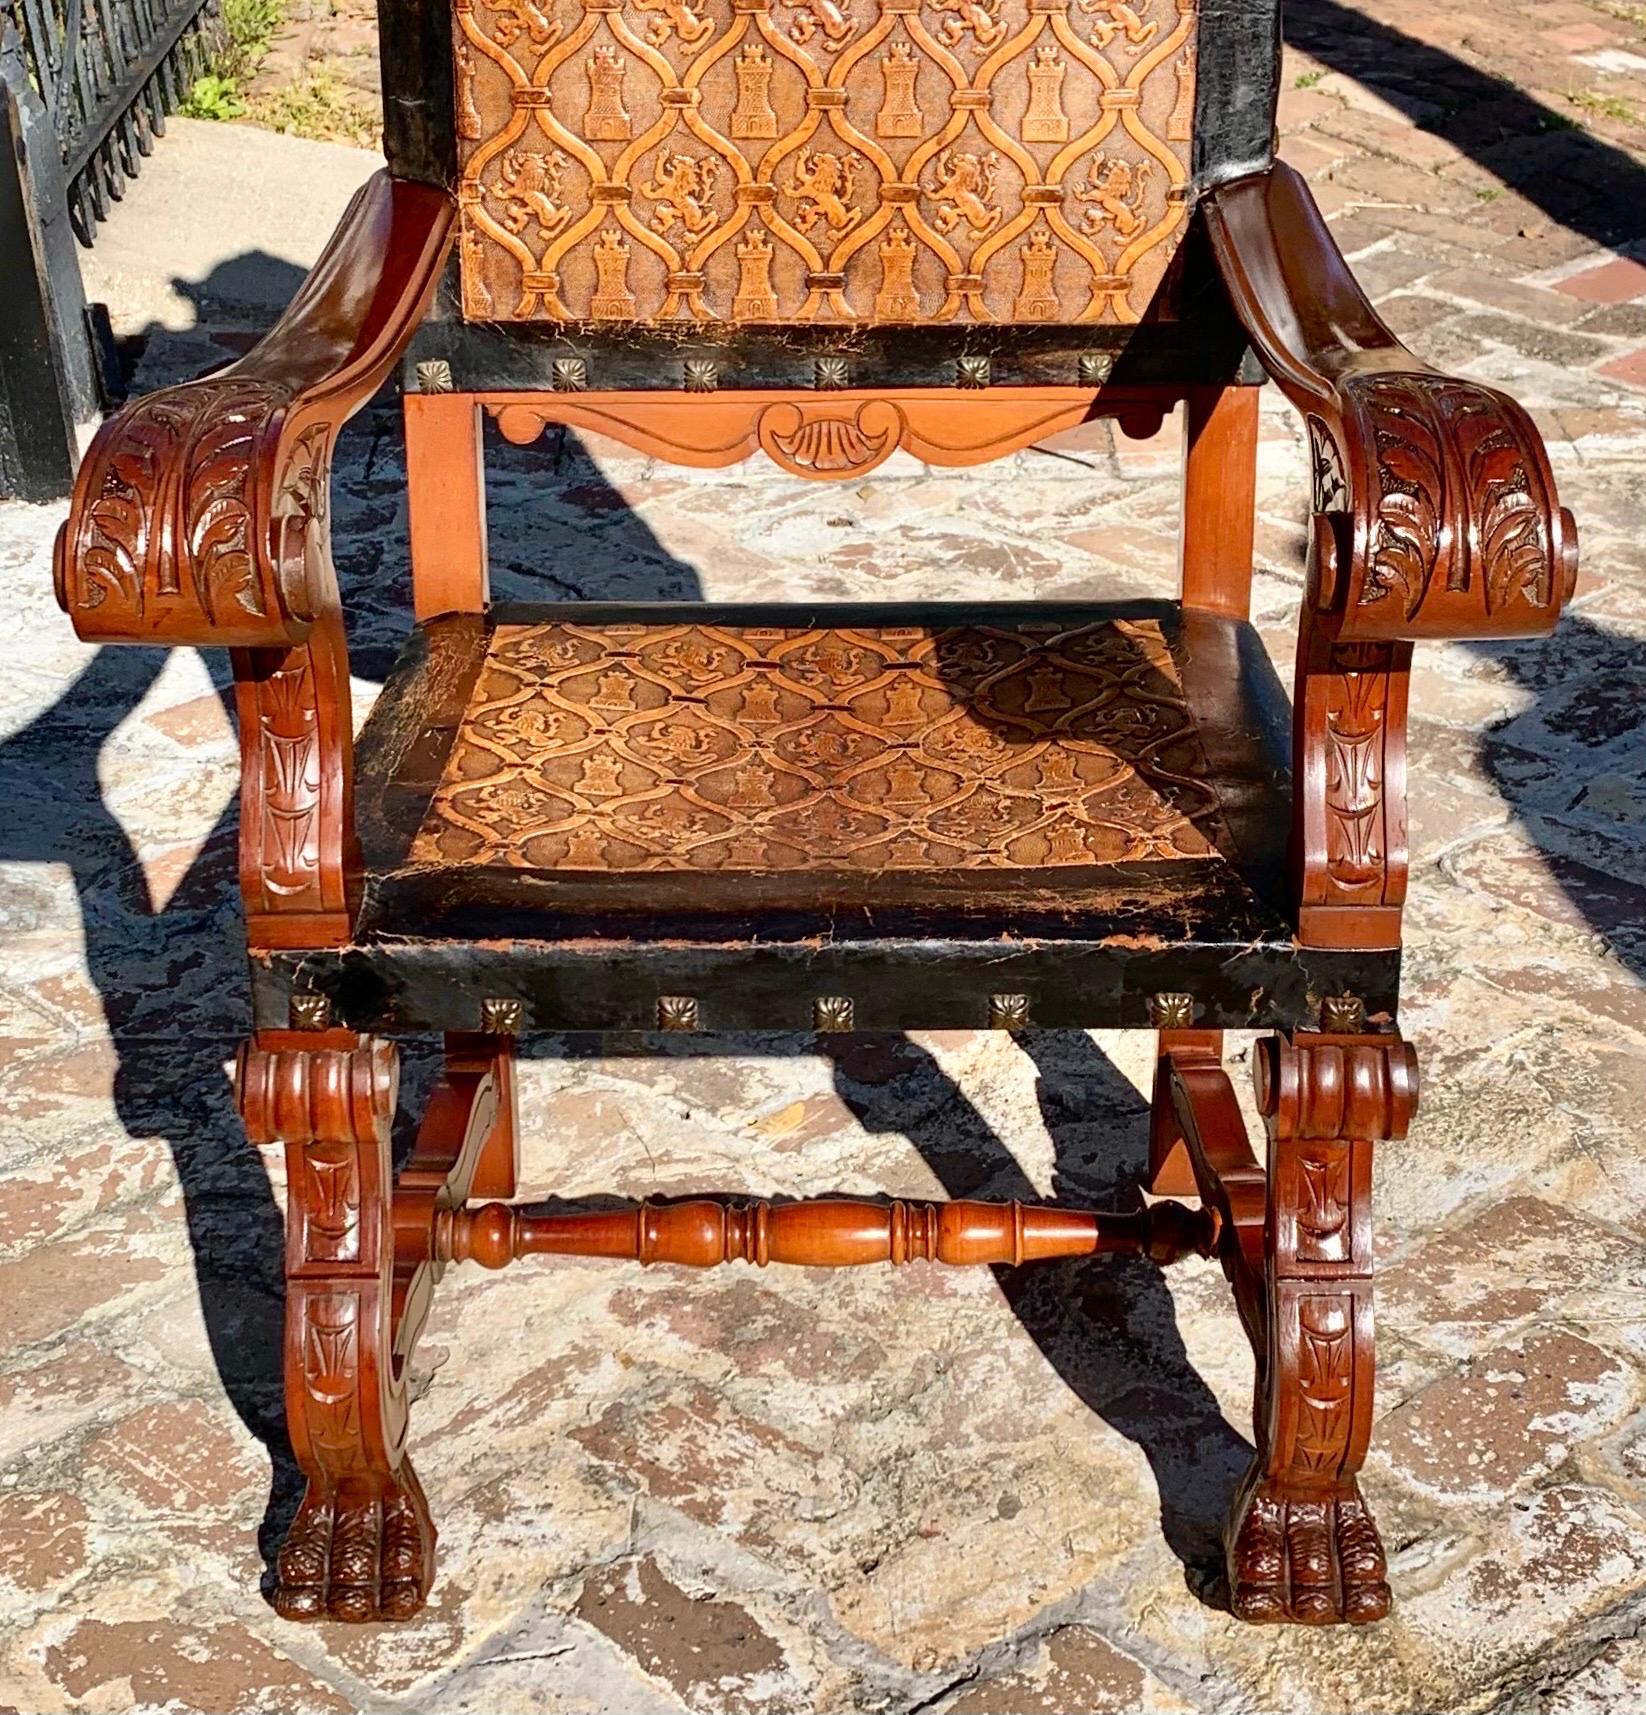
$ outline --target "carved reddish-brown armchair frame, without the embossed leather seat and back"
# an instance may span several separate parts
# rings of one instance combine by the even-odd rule
[[[1132,329],[1097,357],[1068,329],[982,343],[869,334],[856,379],[832,369],[825,381],[826,340],[725,333],[669,345],[665,364],[641,333],[573,345],[554,329],[465,324],[444,274],[451,14],[434,0],[386,9],[389,172],[357,196],[252,353],[137,400],[91,448],[57,556],[81,636],[233,655],[257,1017],[237,1084],[250,1139],[286,1151],[286,1398],[309,1478],[279,1554],[288,1617],[393,1619],[422,1605],[434,1528],[406,1458],[406,1358],[449,1264],[528,1252],[686,1266],[1216,1255],[1257,1355],[1257,1458],[1226,1537],[1233,1610],[1305,1624],[1387,1612],[1356,1473],[1372,1423],[1372,1149],[1404,1137],[1416,1104],[1415,1055],[1396,1027],[1411,648],[1548,629],[1574,585],[1576,532],[1526,413],[1413,357],[1355,285],[1301,178],[1271,159],[1274,7],[1231,5],[1204,29],[1224,34],[1202,39],[1183,250],[1192,326],[1171,341]],[[396,362],[418,629],[357,744],[327,477],[338,430]],[[686,362],[729,364],[739,379],[701,391],[701,372],[682,384],[669,367]],[[592,369],[609,384],[590,386]],[[1313,449],[1289,717],[1229,689],[1265,671],[1245,624],[1262,376],[1303,413]],[[375,935],[389,882],[374,854],[393,844],[399,801],[418,782],[427,796],[441,758],[420,746],[449,739],[502,623],[485,576],[487,420],[516,442],[571,424],[696,465],[761,451],[826,480],[857,478],[895,448],[977,463],[1092,415],[1147,434],[1178,403],[1174,623],[1210,664],[1214,770],[1255,779],[1253,732],[1289,727],[1284,933],[1231,919],[1126,935],[1025,906],[1003,945],[964,914],[940,912],[919,933],[847,914],[797,962],[802,926],[789,942],[736,930],[682,942],[670,930],[681,911],[660,904],[592,943],[477,904],[444,938]],[[1284,763],[1259,782],[1265,804],[1276,780],[1286,789]],[[420,895],[406,897],[417,923]],[[1195,1207],[693,1200],[568,1216],[508,1200],[518,1032],[772,1022],[1154,1029],[1149,1188]],[[1269,1032],[1257,1055],[1264,1163],[1221,1065],[1231,1027]],[[446,1075],[396,1176],[391,1038],[417,1031],[444,1034]]]

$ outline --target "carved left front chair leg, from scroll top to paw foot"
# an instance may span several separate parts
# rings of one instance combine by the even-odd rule
[[[405,1456],[393,1358],[389,1122],[398,1055],[350,1031],[262,1031],[240,1115],[286,1151],[286,1418],[309,1489],[276,1566],[286,1619],[405,1619],[429,1593],[434,1526]]]

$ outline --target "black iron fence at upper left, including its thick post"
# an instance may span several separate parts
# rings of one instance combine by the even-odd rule
[[[221,0],[0,0],[0,496],[67,494],[105,388],[89,245],[206,69]]]

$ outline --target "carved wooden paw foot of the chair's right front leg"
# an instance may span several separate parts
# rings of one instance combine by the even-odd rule
[[[1360,1487],[1241,1487],[1229,1519],[1229,1605],[1255,1624],[1365,1626],[1389,1612],[1377,1525]]]

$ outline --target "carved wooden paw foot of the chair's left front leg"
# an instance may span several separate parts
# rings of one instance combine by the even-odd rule
[[[309,1485],[274,1562],[285,1619],[410,1619],[434,1578],[434,1525],[410,1461],[379,1495]]]

